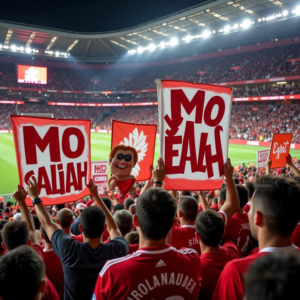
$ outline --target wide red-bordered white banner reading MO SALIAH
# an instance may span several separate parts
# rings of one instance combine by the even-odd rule
[[[91,120],[10,115],[10,121],[20,186],[35,176],[45,205],[89,195]],[[26,204],[32,206],[29,197]]]

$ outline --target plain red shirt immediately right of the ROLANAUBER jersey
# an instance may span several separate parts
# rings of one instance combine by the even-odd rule
[[[200,299],[211,299],[224,266],[227,262],[239,257],[238,249],[230,240],[225,240],[223,246],[217,251],[201,254],[202,282]]]

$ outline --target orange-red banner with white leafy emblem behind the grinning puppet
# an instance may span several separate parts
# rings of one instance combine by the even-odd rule
[[[154,158],[156,130],[156,124],[134,124],[112,119],[111,147],[124,144],[137,150],[138,161],[131,172],[137,181],[148,180],[152,176],[150,167]]]

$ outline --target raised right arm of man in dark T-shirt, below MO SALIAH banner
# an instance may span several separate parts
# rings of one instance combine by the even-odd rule
[[[107,231],[110,234],[110,238],[113,239],[116,236],[122,236],[114,218],[113,215],[110,213],[104,202],[102,201],[101,197],[98,194],[98,185],[95,184],[93,179],[87,184],[87,187],[91,193],[91,195],[95,198],[97,205],[104,210],[105,216],[106,216],[106,225],[107,225]]]

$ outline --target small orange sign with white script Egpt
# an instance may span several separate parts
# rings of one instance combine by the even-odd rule
[[[291,133],[274,133],[270,148],[271,169],[286,166],[289,148],[292,143]]]

